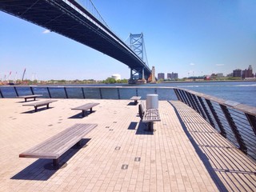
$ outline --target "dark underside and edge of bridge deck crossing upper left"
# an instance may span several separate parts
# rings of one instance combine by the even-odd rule
[[[109,28],[74,0],[0,0],[0,10],[74,39],[123,62],[145,78],[149,66]]]

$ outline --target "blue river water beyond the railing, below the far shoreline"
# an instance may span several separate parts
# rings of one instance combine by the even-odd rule
[[[70,85],[65,85],[70,86]],[[129,86],[132,88],[133,86],[127,84],[114,84],[114,85],[71,85],[71,86]],[[146,86],[146,87],[179,87],[187,90],[194,90],[199,93],[213,95],[217,98],[223,98],[226,100],[231,100],[234,102],[240,102],[242,104],[246,104],[248,106],[256,106],[256,82],[178,82],[178,83],[158,83],[158,84],[146,84],[146,85],[136,85],[136,86]],[[51,86],[49,86],[51,87]],[[64,86],[54,85],[54,87],[50,88],[50,93],[52,98],[66,98]],[[12,87],[2,87],[2,94],[4,94],[5,98],[14,98],[16,94]],[[19,87],[17,86],[18,94],[25,95],[31,94],[29,87]],[[43,94],[43,97],[49,97],[49,94],[46,90],[46,86],[34,86],[34,94]],[[82,98],[82,90],[81,88],[66,88],[68,92],[69,98]],[[119,91],[119,93],[118,93]],[[131,96],[136,94],[142,96],[142,99],[146,98],[146,94],[154,93],[152,89],[138,89],[138,93],[136,93],[136,89],[104,89],[102,90],[102,98],[114,98],[118,99],[118,94],[120,98],[129,99]],[[98,89],[90,89],[86,88],[84,91],[86,98],[100,98],[100,93]],[[157,90],[160,100],[171,100],[177,99],[174,95],[174,91],[171,90]],[[96,96],[95,96],[96,95]]]

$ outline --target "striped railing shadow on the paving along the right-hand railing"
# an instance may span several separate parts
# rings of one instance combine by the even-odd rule
[[[179,113],[179,107],[171,105],[218,189],[255,191],[256,162],[218,134],[217,130],[191,108],[186,113]],[[197,121],[193,122],[193,118]]]

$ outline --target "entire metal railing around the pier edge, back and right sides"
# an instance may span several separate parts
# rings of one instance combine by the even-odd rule
[[[224,138],[256,160],[256,107],[215,98],[192,90],[163,86],[0,86],[0,98],[42,94],[42,98],[130,99],[158,94],[179,100],[206,119]]]

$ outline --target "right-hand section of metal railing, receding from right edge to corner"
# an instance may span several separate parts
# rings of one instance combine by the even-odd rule
[[[219,134],[256,159],[256,107],[192,90],[174,88],[174,92],[179,101],[196,110]]]

